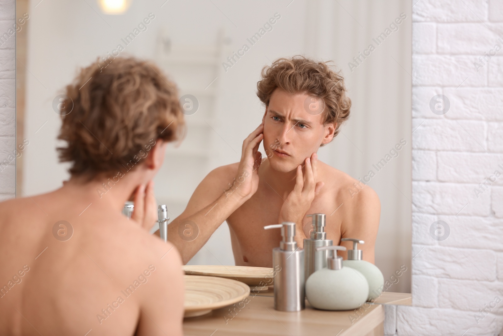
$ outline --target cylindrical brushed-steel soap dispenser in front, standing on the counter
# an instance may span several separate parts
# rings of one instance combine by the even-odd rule
[[[264,229],[281,228],[280,247],[273,249],[274,309],[299,311],[305,308],[304,301],[304,250],[298,248],[295,223],[268,225]]]

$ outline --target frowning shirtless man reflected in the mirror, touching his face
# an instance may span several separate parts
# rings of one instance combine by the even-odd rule
[[[343,78],[323,62],[296,56],[280,58],[266,67],[257,87],[266,109],[262,124],[245,141],[263,140],[267,157],[256,161],[254,169],[260,169],[255,169],[254,175],[239,174],[241,160],[211,171],[199,184],[184,213],[169,225],[169,239],[179,248],[183,263],[219,226],[191,216],[203,207],[210,214],[218,212],[216,197],[241,197],[251,183],[256,192],[225,218],[236,265],[272,267],[272,249],[279,246],[281,235],[280,230],[264,230],[266,225],[297,223],[295,240],[302,247],[311,229],[311,219],[305,216],[312,213],[326,214],[327,238],[334,245],[340,244],[341,238],[364,240],[359,246],[363,258],[374,262],[379,197],[369,186],[318,161],[316,155],[349,116],[351,101]],[[197,238],[183,239],[176,232],[180,227],[196,227]],[[341,245],[352,248],[350,242]],[[340,255],[347,257],[346,252]]]

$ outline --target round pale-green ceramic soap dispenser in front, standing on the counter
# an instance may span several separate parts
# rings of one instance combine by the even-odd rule
[[[369,284],[363,274],[343,266],[343,258],[337,250],[346,250],[344,246],[321,246],[316,250],[331,250],[328,267],[311,274],[306,281],[306,297],[317,309],[350,310],[356,309],[367,301]]]

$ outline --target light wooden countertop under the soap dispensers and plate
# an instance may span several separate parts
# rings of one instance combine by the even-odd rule
[[[382,304],[410,305],[410,294],[384,292],[376,303],[365,303],[359,309],[325,311],[311,307],[299,312],[274,309],[274,292],[252,291],[250,296],[234,305],[213,310],[199,317],[184,319],[184,335],[311,335],[316,336],[379,336],[384,333]]]

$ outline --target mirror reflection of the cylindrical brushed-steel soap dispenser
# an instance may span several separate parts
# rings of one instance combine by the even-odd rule
[[[316,248],[333,245],[330,239],[326,239],[325,214],[312,214],[307,217],[312,217],[313,229],[311,238],[304,239],[304,279],[306,281],[313,272],[326,267],[328,250],[316,251]]]

